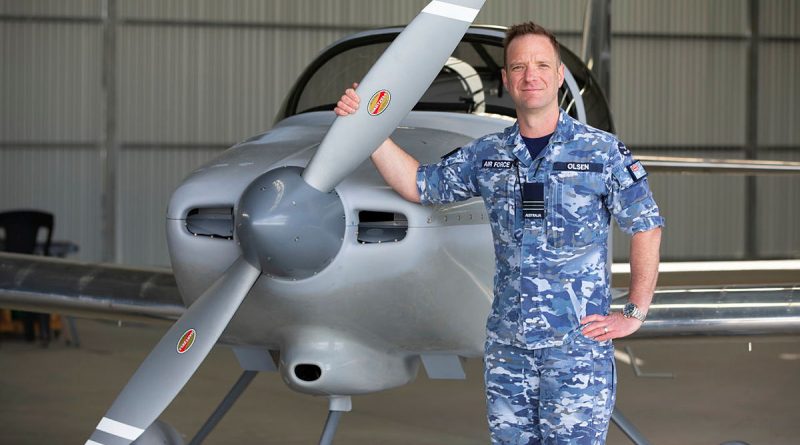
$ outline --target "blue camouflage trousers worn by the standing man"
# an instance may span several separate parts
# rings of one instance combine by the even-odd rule
[[[605,443],[617,380],[610,341],[529,350],[489,340],[484,377],[493,444]]]

